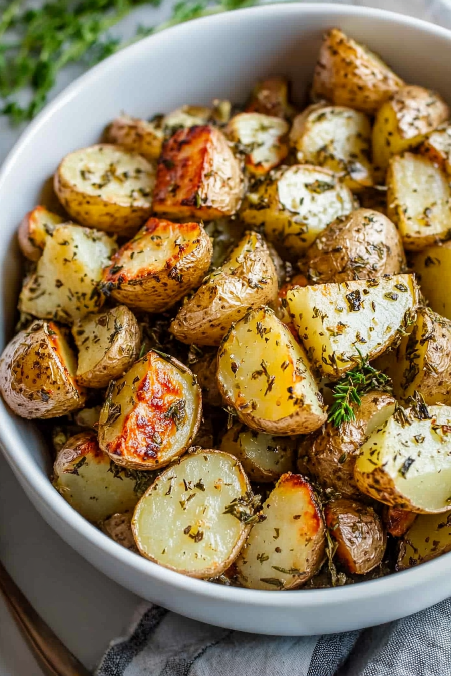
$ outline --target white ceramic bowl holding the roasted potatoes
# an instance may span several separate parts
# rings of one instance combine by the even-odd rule
[[[451,101],[451,32],[377,9],[304,3],[243,9],[128,47],[47,106],[1,170],[0,347],[11,337],[21,276],[16,228],[66,153],[97,141],[121,110],[149,117],[182,103],[210,103],[213,97],[241,101],[268,75],[289,76],[295,97],[302,99],[321,34],[331,26],[381,53],[406,81],[437,88]],[[451,554],[337,589],[260,592],[183,577],[125,550],[79,516],[49,482],[45,441],[3,402],[0,441],[30,500],[72,547],[124,587],[189,617],[259,633],[327,633],[393,620],[451,594]]]

